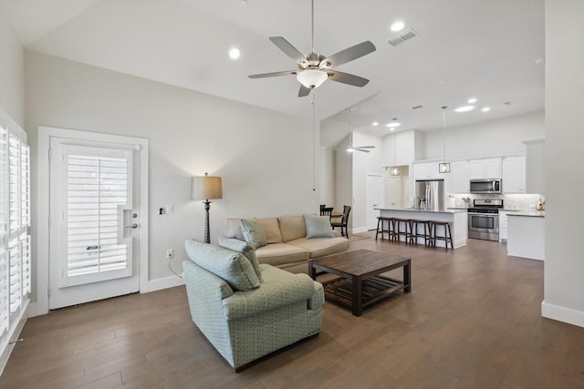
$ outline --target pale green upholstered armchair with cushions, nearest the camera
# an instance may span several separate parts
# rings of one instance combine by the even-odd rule
[[[186,241],[185,248],[193,322],[236,372],[320,332],[324,292],[307,274],[254,266],[253,250],[244,255],[199,241]]]

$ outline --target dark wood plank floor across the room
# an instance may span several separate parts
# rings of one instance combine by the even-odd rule
[[[489,241],[350,246],[411,257],[412,292],[360,317],[326,303],[317,338],[240,374],[199,333],[177,287],[29,319],[0,387],[584,387],[584,328],[540,317],[543,262]]]

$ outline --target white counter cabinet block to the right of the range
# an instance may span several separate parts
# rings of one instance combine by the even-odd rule
[[[546,212],[524,210],[507,216],[507,255],[544,261]]]

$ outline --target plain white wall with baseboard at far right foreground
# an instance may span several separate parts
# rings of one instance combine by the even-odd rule
[[[546,1],[546,271],[542,315],[584,327],[584,2]],[[576,194],[577,200],[571,194]]]

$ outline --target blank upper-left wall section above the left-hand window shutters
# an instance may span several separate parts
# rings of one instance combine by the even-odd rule
[[[0,8],[0,107],[25,128],[25,50]]]

